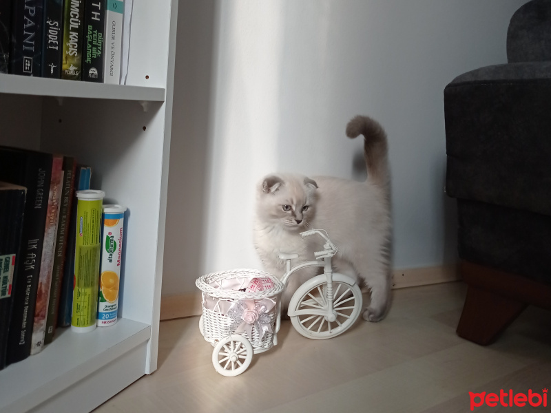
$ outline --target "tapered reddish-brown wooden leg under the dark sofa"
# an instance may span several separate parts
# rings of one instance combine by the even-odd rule
[[[457,335],[488,346],[526,308],[526,304],[469,286]]]

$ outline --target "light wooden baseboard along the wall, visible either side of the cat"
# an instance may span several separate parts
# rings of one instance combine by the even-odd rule
[[[392,288],[407,288],[457,281],[457,265],[405,268],[393,271]],[[201,293],[163,295],[160,299],[160,321],[201,314]]]

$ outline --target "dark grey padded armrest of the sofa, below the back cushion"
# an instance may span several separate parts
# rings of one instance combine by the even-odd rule
[[[444,114],[448,195],[551,215],[551,62],[462,74]]]

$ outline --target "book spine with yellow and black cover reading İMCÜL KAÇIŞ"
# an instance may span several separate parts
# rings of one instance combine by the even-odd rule
[[[82,76],[82,38],[84,0],[65,0],[63,10],[63,53],[61,78],[80,81]]]

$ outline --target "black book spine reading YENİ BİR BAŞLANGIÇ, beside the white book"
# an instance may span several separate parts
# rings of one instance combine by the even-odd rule
[[[84,8],[83,81],[103,83],[105,0],[86,0]]]

